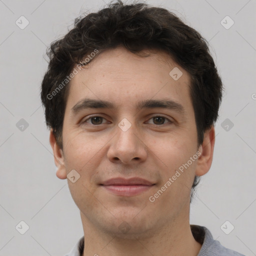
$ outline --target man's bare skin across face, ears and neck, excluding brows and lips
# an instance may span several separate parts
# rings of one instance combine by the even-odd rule
[[[144,52],[149,52],[144,50]],[[123,47],[98,54],[70,81],[63,120],[63,148],[50,132],[57,177],[64,179],[75,169],[80,178],[68,185],[80,210],[83,255],[197,255],[201,244],[189,226],[190,190],[195,175],[211,165],[214,127],[205,131],[197,146],[197,131],[189,74],[159,50],[140,57]],[[174,67],[182,76],[174,80]],[[83,98],[111,101],[113,109],[71,108]],[[136,109],[141,99],[171,99],[183,106],[175,109]],[[96,124],[91,116],[100,116]],[[153,117],[162,116],[163,119]],[[123,131],[118,123],[131,126]],[[94,123],[94,124],[93,124]],[[163,123],[163,124],[162,124]],[[200,156],[154,202],[154,195],[196,152]],[[134,196],[118,196],[100,184],[113,177],[142,177],[155,183]],[[125,233],[120,224],[130,229]]]

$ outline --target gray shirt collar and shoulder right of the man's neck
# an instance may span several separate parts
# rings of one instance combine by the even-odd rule
[[[197,256],[245,256],[239,252],[228,249],[214,240],[211,232],[205,226],[191,225],[194,238],[202,243]]]

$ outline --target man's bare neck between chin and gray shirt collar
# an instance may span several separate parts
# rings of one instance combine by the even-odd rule
[[[148,231],[146,234],[130,234],[123,237],[116,233],[100,231],[81,213],[84,229],[82,256],[196,256],[199,253],[201,244],[192,235],[189,225],[189,213],[186,218],[183,217],[179,216],[179,219],[169,221],[164,226]]]

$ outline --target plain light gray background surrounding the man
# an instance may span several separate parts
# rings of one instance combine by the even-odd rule
[[[107,1],[107,0],[105,0]],[[225,86],[210,171],[191,204],[190,222],[214,239],[256,255],[255,0],[148,0],[173,10],[209,42]],[[63,255],[83,235],[67,181],[55,176],[40,103],[46,46],[64,35],[82,11],[102,0],[0,0],[0,255]],[[24,15],[29,24],[15,21]],[[234,25],[220,21],[230,16]],[[29,126],[16,127],[24,118]],[[229,131],[221,123],[229,118]],[[29,225],[25,234],[15,226]],[[228,235],[220,226],[234,226]]]

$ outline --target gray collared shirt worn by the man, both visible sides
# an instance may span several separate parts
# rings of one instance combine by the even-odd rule
[[[197,256],[245,256],[234,250],[223,247],[214,240],[210,231],[204,226],[190,225],[196,241],[202,244]],[[84,247],[84,237],[81,237],[71,251],[65,256],[81,256]]]

